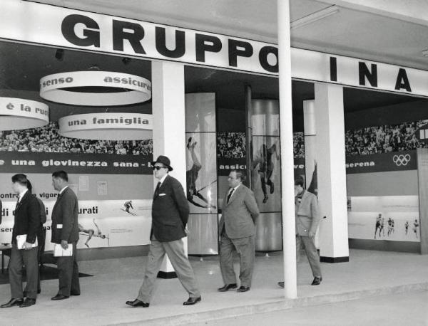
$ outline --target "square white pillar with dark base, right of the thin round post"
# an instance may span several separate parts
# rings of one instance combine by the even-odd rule
[[[343,87],[315,83],[315,107],[321,261],[349,261]]]

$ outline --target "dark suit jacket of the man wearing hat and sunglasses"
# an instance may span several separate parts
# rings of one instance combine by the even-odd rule
[[[168,175],[153,196],[152,230],[161,242],[175,241],[185,237],[189,204],[183,186]]]

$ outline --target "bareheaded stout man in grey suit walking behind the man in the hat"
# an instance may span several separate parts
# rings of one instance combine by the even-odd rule
[[[220,270],[225,285],[218,291],[237,288],[233,270],[233,251],[240,256],[240,288],[250,290],[255,260],[255,219],[260,214],[254,193],[244,184],[245,174],[232,170],[229,174],[229,190],[223,199],[220,220]]]

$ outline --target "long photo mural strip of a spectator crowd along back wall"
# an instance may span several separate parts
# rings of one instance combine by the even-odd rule
[[[402,122],[399,125],[364,127],[345,132],[347,155],[401,152],[428,147],[419,142],[416,132],[428,120]],[[305,157],[303,132],[293,134],[295,158]],[[79,140],[58,134],[58,123],[49,122],[44,127],[0,132],[0,151],[6,152],[59,152],[92,154],[153,154],[153,140],[108,141]],[[217,155],[240,159],[246,155],[245,132],[218,132]]]

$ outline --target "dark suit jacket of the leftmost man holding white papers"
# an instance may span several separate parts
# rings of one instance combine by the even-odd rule
[[[12,231],[12,243],[16,243],[16,236],[26,234],[26,242],[34,243],[40,226],[39,202],[26,191],[15,209],[15,224]]]

